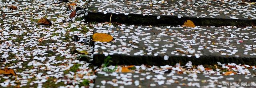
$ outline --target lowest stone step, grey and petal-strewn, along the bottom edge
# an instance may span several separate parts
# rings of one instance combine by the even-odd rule
[[[156,74],[99,72],[95,88],[254,88],[256,79],[244,75]],[[246,85],[245,85],[246,84]]]

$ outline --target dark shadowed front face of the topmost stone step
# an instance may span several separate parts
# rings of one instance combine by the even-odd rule
[[[109,22],[111,14],[103,14],[101,12],[88,12],[85,16],[86,22]],[[194,18],[184,16],[178,18],[177,16],[160,16],[157,19],[157,15],[146,15],[141,14],[112,14],[111,22],[117,22],[126,25],[135,26],[178,26],[183,25],[186,20],[192,20],[196,26],[237,26],[243,28],[246,26],[256,25],[256,20],[237,20],[237,19],[222,19],[222,18]]]

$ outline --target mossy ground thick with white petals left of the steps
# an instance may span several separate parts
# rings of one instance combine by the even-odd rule
[[[93,87],[93,74],[89,63],[77,58],[80,53],[92,57],[88,43],[93,30],[83,22],[83,15],[64,22],[71,10],[86,6],[77,0],[58,3],[61,0],[0,0],[0,69],[9,68],[17,76],[0,72],[0,88],[79,88]],[[9,6],[17,6],[10,10]],[[38,20],[47,18],[52,26],[39,25]],[[72,41],[72,36],[80,40]],[[87,82],[87,83],[84,83]],[[90,85],[89,85],[90,84]]]

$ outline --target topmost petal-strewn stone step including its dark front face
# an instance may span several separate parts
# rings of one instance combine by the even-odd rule
[[[177,26],[192,20],[196,26],[256,25],[256,5],[239,0],[92,0],[86,21],[129,25]]]

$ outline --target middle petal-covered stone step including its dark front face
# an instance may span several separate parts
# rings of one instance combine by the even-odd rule
[[[95,26],[94,33],[108,33],[112,42],[94,42],[93,63],[106,56],[112,65],[256,64],[256,30],[252,27]]]

